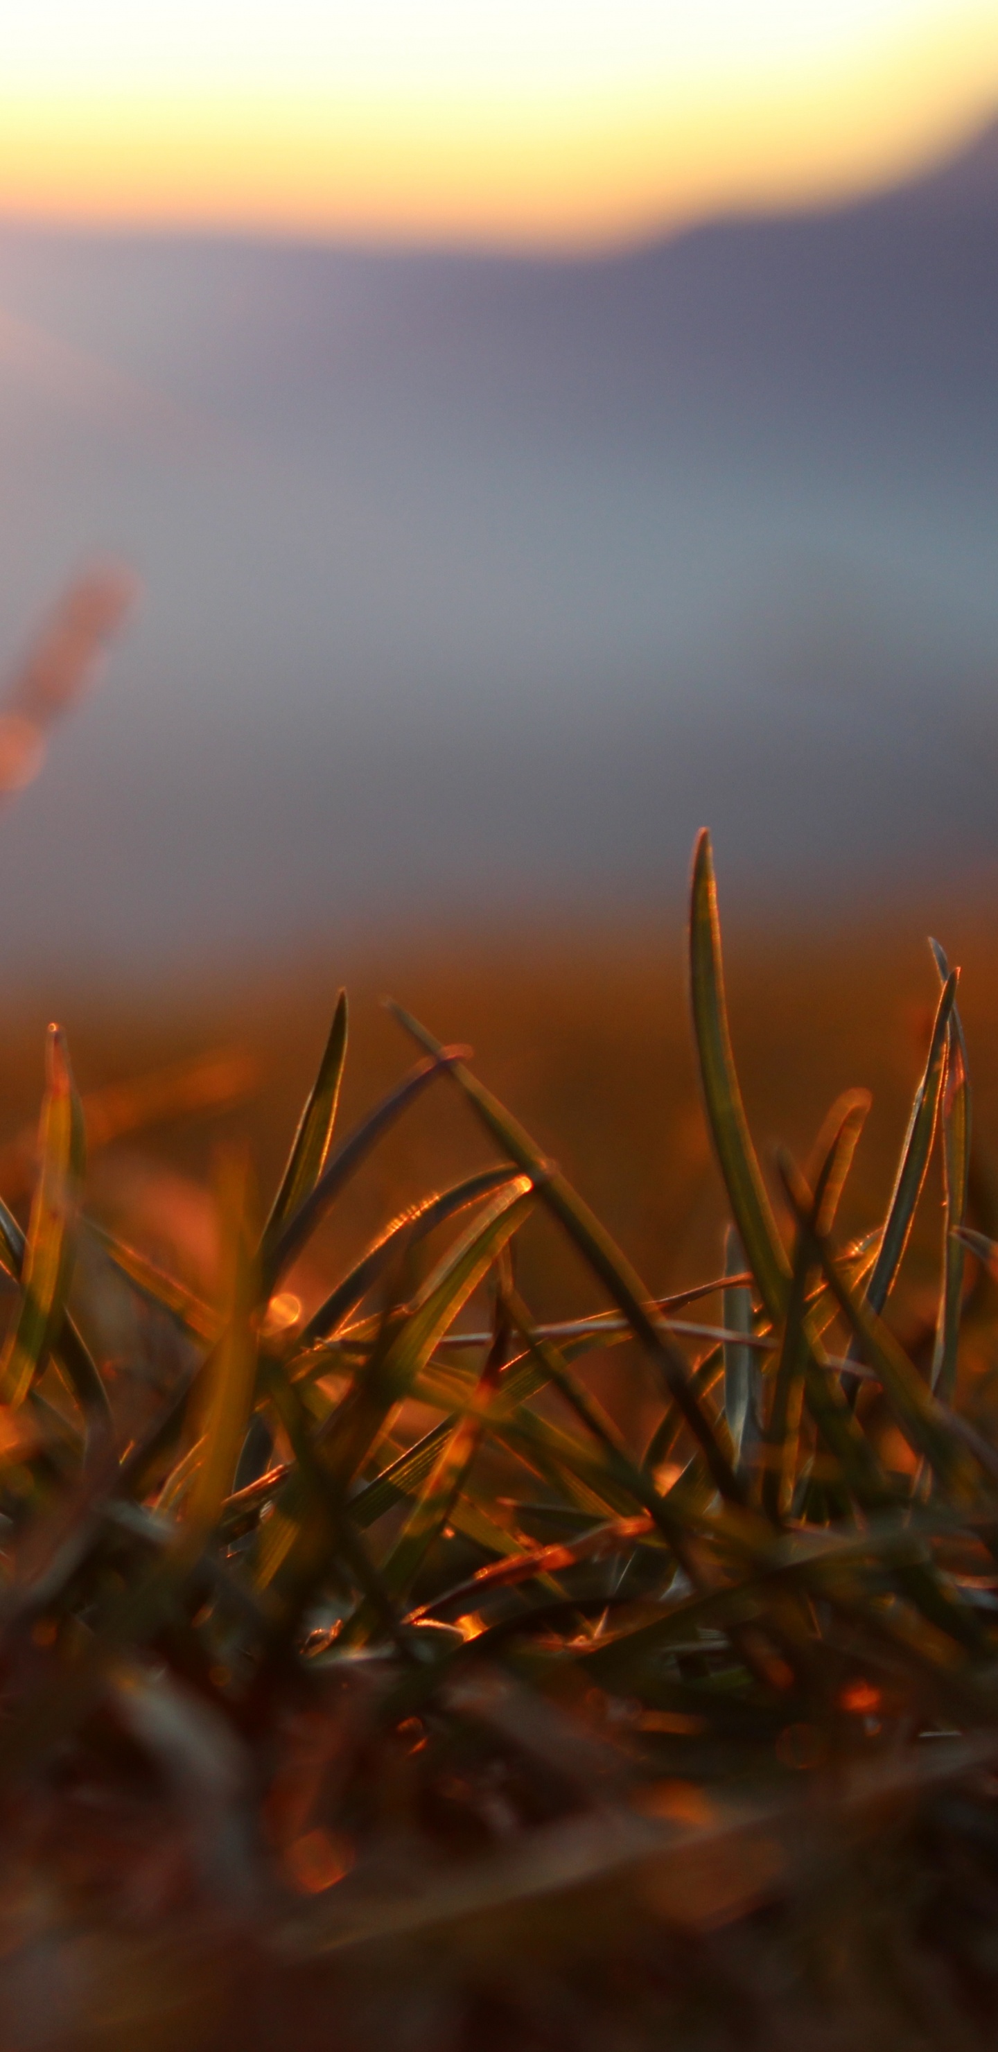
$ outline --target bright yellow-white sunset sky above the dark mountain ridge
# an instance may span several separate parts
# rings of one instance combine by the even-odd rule
[[[0,213],[600,246],[899,181],[998,109],[998,0],[31,0]]]

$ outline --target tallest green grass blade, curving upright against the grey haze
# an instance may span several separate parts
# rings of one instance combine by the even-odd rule
[[[698,835],[692,872],[690,997],[706,1118],[731,1213],[760,1297],[770,1319],[778,1324],[786,1303],[791,1270],[752,1145],[731,1053],[715,864],[706,829]]]

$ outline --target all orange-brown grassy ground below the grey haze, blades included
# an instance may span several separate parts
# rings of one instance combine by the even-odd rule
[[[690,936],[0,1020],[4,2052],[992,2044],[998,960]]]

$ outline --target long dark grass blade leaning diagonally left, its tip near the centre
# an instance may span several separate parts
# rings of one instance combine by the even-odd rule
[[[390,1012],[405,1032],[409,1032],[421,1047],[437,1053],[439,1059],[444,1053],[439,1040],[435,1040],[425,1026],[405,1012],[402,1005],[390,1003]],[[635,1338],[641,1340],[651,1363],[657,1367],[667,1395],[678,1406],[690,1426],[690,1432],[702,1447],[711,1475],[715,1477],[721,1494],[731,1502],[741,1502],[745,1494],[743,1486],[731,1467],[725,1447],[721,1445],[715,1422],[696,1397],[686,1356],[669,1338],[667,1330],[657,1324],[651,1291],[645,1289],[641,1276],[630,1268],[626,1256],[620,1254],[620,1248],[614,1246],[610,1233],[604,1231],[589,1207],[571,1188],[569,1180],[542,1155],[505,1106],[501,1106],[499,1100],[493,1098],[483,1083],[478,1083],[462,1061],[454,1061],[450,1075],[474,1106],[493,1141],[497,1141],[503,1153],[509,1153],[517,1168],[534,1180],[540,1200],[559,1219],[563,1229],[569,1233],[569,1239],[575,1241],[579,1254],[604,1285],[608,1297],[628,1319]]]

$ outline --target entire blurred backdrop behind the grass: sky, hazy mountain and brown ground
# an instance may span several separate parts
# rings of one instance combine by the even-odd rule
[[[996,0],[0,14],[10,1200],[57,1016],[90,1202],[212,1287],[218,1139],[273,1186],[347,979],[347,1118],[392,987],[649,1280],[706,1272],[711,823],[764,1159],[871,1083],[875,1217],[934,930],[998,1233],[996,111]],[[101,560],[142,597],[62,718],[23,659]],[[327,1268],[481,1153],[427,1100]]]

